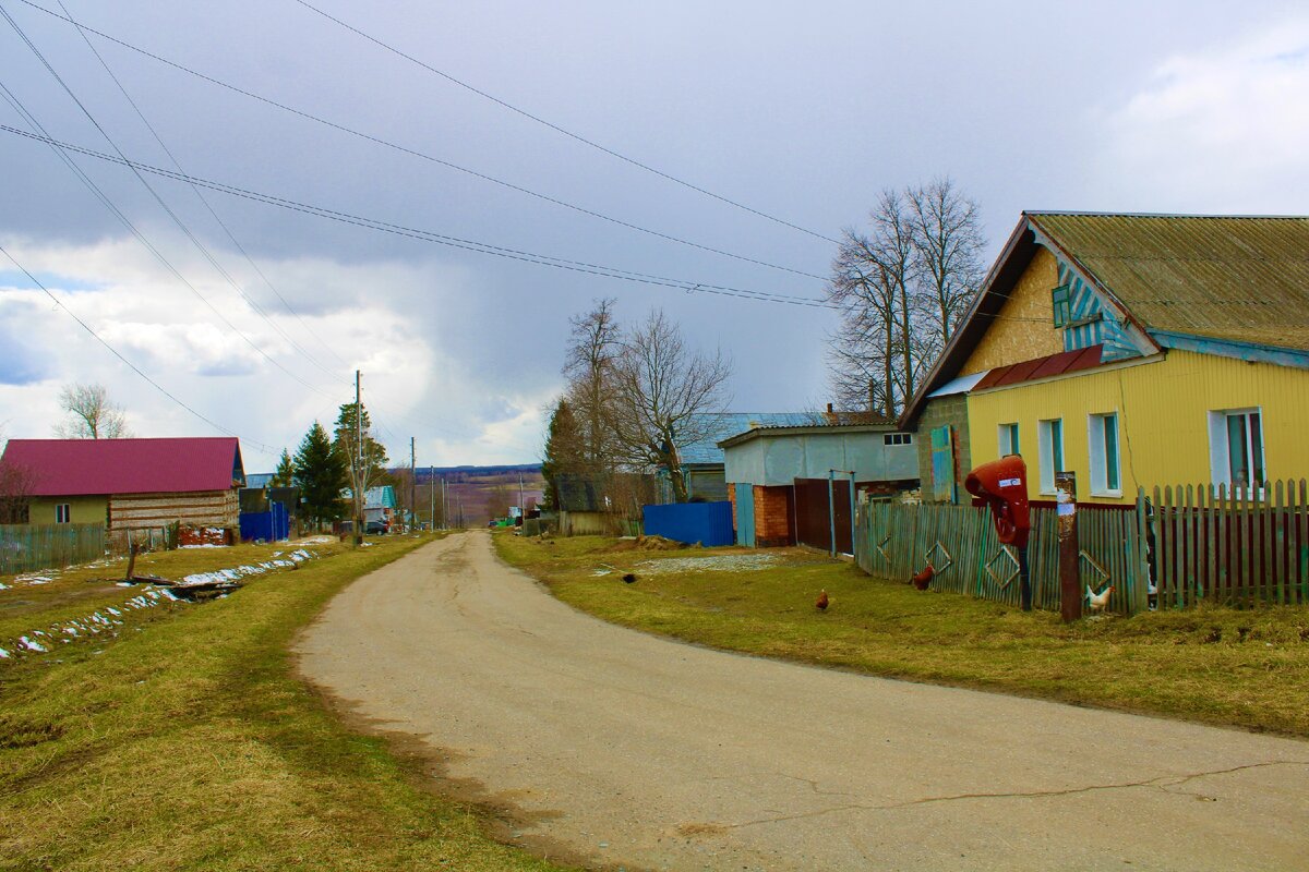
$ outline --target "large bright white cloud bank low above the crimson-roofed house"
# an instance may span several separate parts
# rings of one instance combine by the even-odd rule
[[[408,460],[411,434],[423,465],[524,463],[539,454],[548,391],[514,366],[487,366],[466,348],[456,350],[452,336],[466,343],[478,326],[452,323],[446,312],[467,298],[466,278],[442,264],[263,261],[260,271],[296,310],[264,301],[251,284],[247,293],[259,299],[263,318],[226,282],[196,280],[212,275],[198,259],[170,258],[260,353],[135,243],[5,239],[4,246],[135,366],[241,435],[247,469],[271,469],[314,418],[330,426],[338,407],[353,400],[355,369],[363,370],[365,405],[397,463]],[[103,383],[137,435],[215,434],[43,292],[12,271],[4,276],[4,326],[22,339],[9,357],[0,356],[0,421],[9,437],[51,435],[60,420],[59,387],[68,382]],[[499,356],[493,344],[486,353]]]

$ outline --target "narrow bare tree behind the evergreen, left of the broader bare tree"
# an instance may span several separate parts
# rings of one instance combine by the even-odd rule
[[[614,301],[597,299],[589,312],[571,318],[569,323],[572,337],[563,374],[568,378],[565,397],[583,442],[577,454],[592,472],[609,471],[613,469],[613,446],[605,407],[614,361],[622,352],[622,328],[614,315]]]

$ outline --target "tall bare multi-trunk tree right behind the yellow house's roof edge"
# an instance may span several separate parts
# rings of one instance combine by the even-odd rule
[[[978,207],[950,179],[882,191],[869,233],[844,231],[827,299],[834,399],[895,417],[949,343],[982,280]]]

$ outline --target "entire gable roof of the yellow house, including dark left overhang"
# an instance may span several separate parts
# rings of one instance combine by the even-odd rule
[[[958,374],[1041,244],[1151,352],[1179,337],[1309,352],[1309,217],[1024,212],[902,428]]]

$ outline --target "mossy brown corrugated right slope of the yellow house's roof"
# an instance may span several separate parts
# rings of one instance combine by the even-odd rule
[[[1028,217],[1147,329],[1309,350],[1309,217]]]

